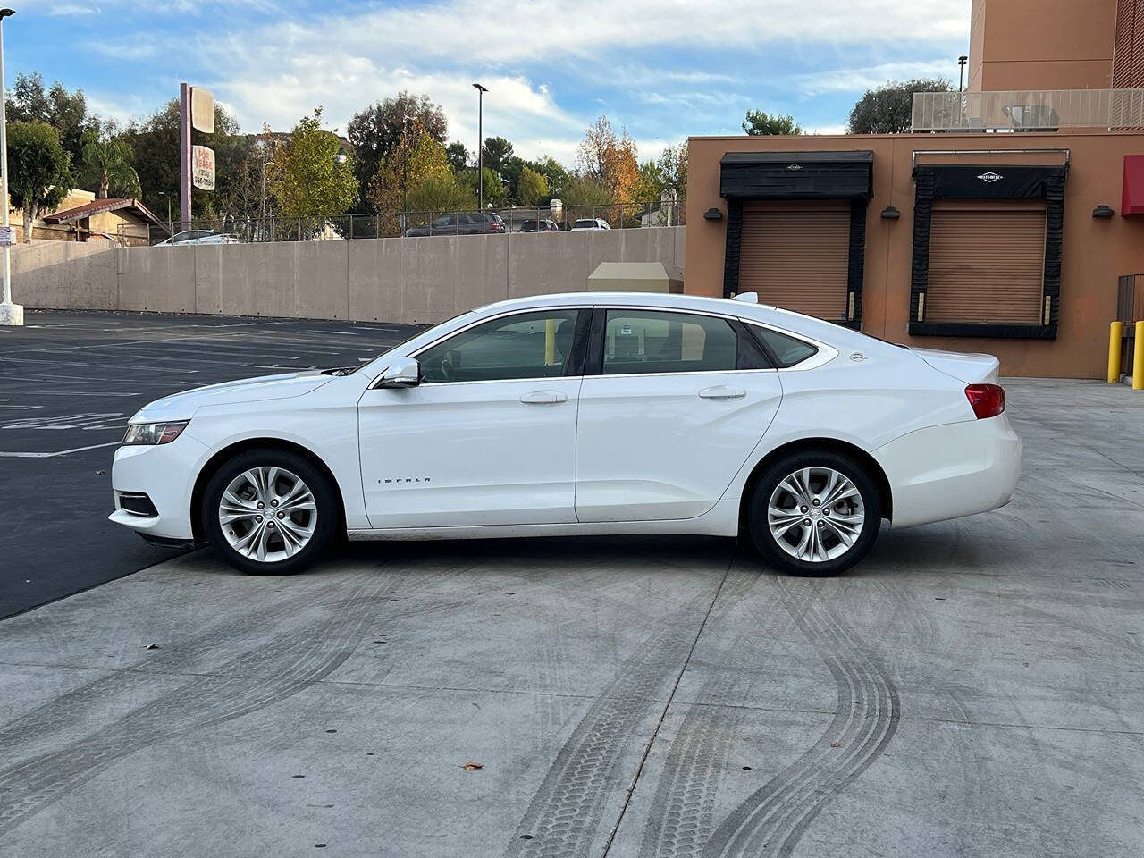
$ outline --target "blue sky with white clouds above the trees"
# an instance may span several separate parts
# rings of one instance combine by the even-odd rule
[[[13,0],[8,80],[40,72],[93,108],[143,117],[212,89],[245,130],[315,105],[344,129],[400,89],[427,93],[451,138],[574,159],[601,113],[651,157],[689,134],[740,133],[749,108],[840,132],[890,78],[956,78],[970,0]]]

